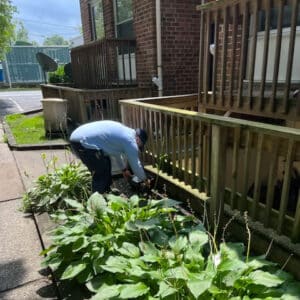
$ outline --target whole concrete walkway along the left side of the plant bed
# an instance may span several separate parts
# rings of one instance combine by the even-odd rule
[[[41,157],[70,160],[65,150],[10,151],[0,124],[0,299],[57,299],[57,289],[41,268],[43,250],[36,219],[19,209],[35,178],[46,172]]]

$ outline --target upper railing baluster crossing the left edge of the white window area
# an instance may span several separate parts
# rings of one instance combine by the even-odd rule
[[[254,1],[254,11],[253,11],[253,35],[252,35],[252,45],[251,45],[251,57],[250,57],[250,72],[249,72],[249,86],[248,86],[248,98],[249,107],[252,109],[253,106],[253,81],[254,81],[254,70],[255,70],[255,60],[256,60],[256,46],[257,46],[257,28],[258,28],[258,0]]]

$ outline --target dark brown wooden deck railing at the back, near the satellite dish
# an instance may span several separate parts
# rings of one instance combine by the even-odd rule
[[[103,39],[71,49],[77,88],[136,85],[135,40]]]

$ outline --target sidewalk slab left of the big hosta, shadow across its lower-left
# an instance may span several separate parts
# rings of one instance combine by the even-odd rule
[[[0,202],[0,292],[43,278],[35,224],[20,206],[20,200]]]

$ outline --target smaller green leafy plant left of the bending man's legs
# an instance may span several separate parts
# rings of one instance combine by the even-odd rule
[[[53,158],[46,164],[48,172],[24,194],[23,211],[53,212],[68,207],[65,198],[83,202],[91,195],[91,175],[85,166],[71,162],[58,168],[56,161]]]

